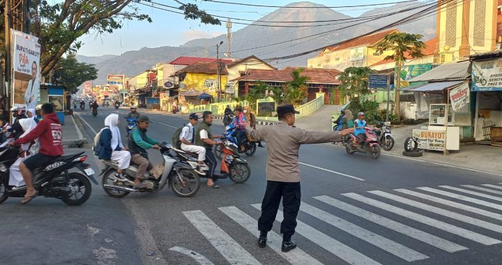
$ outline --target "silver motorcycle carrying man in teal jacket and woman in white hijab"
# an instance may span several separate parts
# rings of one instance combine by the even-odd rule
[[[137,165],[130,165],[124,169],[123,174],[126,179],[119,179],[115,176],[118,169],[117,163],[112,160],[102,160],[105,169],[102,169],[102,187],[107,195],[122,198],[130,192],[158,192],[167,187],[178,195],[178,197],[192,197],[199,191],[200,178],[194,167],[178,159],[178,151],[170,144],[160,144],[160,153],[164,158],[164,169],[160,176],[153,176],[150,172],[145,173],[146,179],[142,181],[145,188],[134,188],[132,183],[137,173]]]

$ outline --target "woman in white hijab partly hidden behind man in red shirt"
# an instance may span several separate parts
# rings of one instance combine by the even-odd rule
[[[20,124],[24,130],[20,138],[27,135],[29,132],[31,132],[31,130],[33,130],[33,128],[36,127],[36,122],[33,119],[20,119]],[[24,185],[19,165],[26,158],[33,156],[35,153],[38,153],[38,146],[39,146],[38,139],[36,139],[31,143],[22,144],[20,146],[20,157],[17,158],[17,160],[14,162],[12,166],[10,166],[9,185],[13,186]]]

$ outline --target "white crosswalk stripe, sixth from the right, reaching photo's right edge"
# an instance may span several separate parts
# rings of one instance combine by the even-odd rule
[[[499,233],[502,234],[502,226],[496,225],[496,224],[492,224],[491,222],[487,222],[487,221],[483,221],[483,220],[480,220],[480,219],[472,218],[470,216],[462,215],[462,214],[459,214],[459,213],[454,213],[452,211],[441,209],[441,208],[438,208],[436,206],[430,206],[429,204],[423,204],[421,202],[416,202],[416,201],[413,201],[411,199],[406,199],[405,197],[393,195],[393,194],[390,194],[390,193],[387,193],[387,192],[383,192],[383,191],[380,191],[380,190],[373,190],[373,191],[369,191],[369,192],[371,194],[379,195],[379,196],[387,198],[387,199],[392,199],[392,200],[394,200],[396,202],[400,202],[402,204],[407,204],[407,205],[416,207],[418,209],[423,209],[425,211],[429,211],[429,212],[432,212],[432,213],[443,215],[443,216],[446,216],[448,218],[452,218],[452,219],[455,219],[455,220],[466,222],[468,224],[476,225],[477,227],[482,227],[482,228],[485,228],[485,229],[488,229],[488,230],[492,230],[494,232],[499,232]]]

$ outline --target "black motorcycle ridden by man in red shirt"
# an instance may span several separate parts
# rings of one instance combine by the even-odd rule
[[[22,198],[26,194],[26,186],[8,185],[10,166],[18,156],[19,150],[15,147],[7,146],[0,151],[0,204],[8,197]],[[84,204],[91,197],[91,181],[98,185],[94,170],[84,163],[86,158],[84,152],[60,156],[49,165],[35,169],[33,187],[38,191],[38,196],[61,199],[70,206]],[[69,172],[74,168],[80,172]]]

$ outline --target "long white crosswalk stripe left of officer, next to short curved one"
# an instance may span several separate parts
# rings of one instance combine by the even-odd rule
[[[230,264],[260,264],[202,211],[184,211],[183,215]]]

